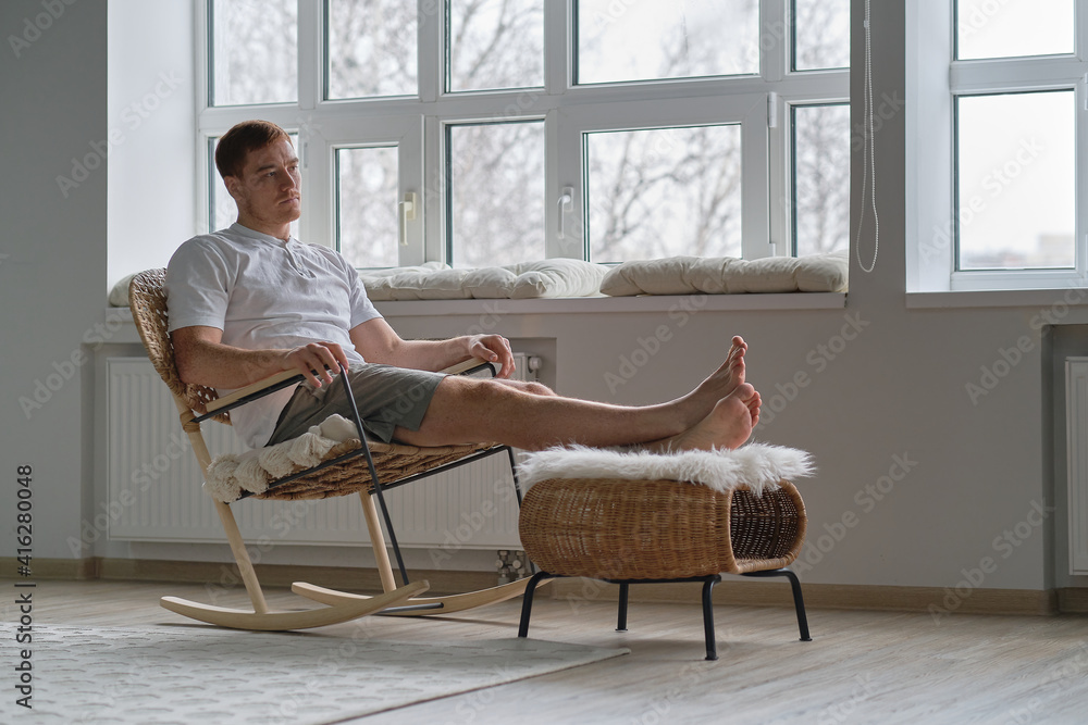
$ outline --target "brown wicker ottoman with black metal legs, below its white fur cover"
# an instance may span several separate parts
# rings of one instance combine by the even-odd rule
[[[540,482],[521,505],[521,543],[541,571],[526,589],[518,635],[528,635],[533,591],[546,578],[619,584],[621,632],[631,584],[702,582],[706,659],[716,660],[710,595],[728,573],[787,577],[808,641],[801,585],[786,568],[801,550],[806,521],[798,489],[784,480],[758,497],[743,485],[719,492],[678,480]]]

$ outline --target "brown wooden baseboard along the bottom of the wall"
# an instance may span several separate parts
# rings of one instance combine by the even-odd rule
[[[289,587],[292,582],[346,590],[380,591],[376,570],[342,566],[258,564],[267,587]],[[0,558],[0,573],[16,572],[13,557]],[[412,571],[413,580],[426,579],[431,591],[452,593],[493,587],[491,572]],[[159,561],[145,559],[35,559],[35,579],[103,579],[118,582],[203,583],[210,588],[240,590],[233,563]],[[630,589],[632,602],[698,603],[701,584],[640,584]],[[892,587],[878,585],[802,584],[805,605],[812,609],[886,610],[925,612],[934,616],[963,614],[1027,614],[1088,612],[1088,588],[969,589],[950,587]],[[596,579],[557,578],[551,582],[553,599],[615,601],[619,587]],[[163,593],[169,593],[163,591]],[[540,592],[540,593],[543,593]],[[786,580],[752,580],[727,576],[714,588],[714,602],[735,607],[793,607]]]

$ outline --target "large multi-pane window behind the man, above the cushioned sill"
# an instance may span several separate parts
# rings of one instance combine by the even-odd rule
[[[846,249],[849,0],[205,2],[210,227],[263,117],[360,267]]]

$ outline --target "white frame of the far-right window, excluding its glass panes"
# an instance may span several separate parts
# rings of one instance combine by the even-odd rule
[[[1076,195],[1071,270],[957,271],[954,224],[957,96],[1073,90],[1076,186],[1088,188],[1088,0],[1075,0],[1075,52],[1066,55],[955,61],[954,10],[954,0],[906,3],[907,292],[1088,286],[1088,198],[1083,192]]]

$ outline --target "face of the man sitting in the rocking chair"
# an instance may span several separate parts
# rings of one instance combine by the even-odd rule
[[[298,155],[287,139],[250,151],[242,176],[224,180],[238,203],[238,221],[249,222],[247,226],[265,232],[286,227],[300,214]]]

